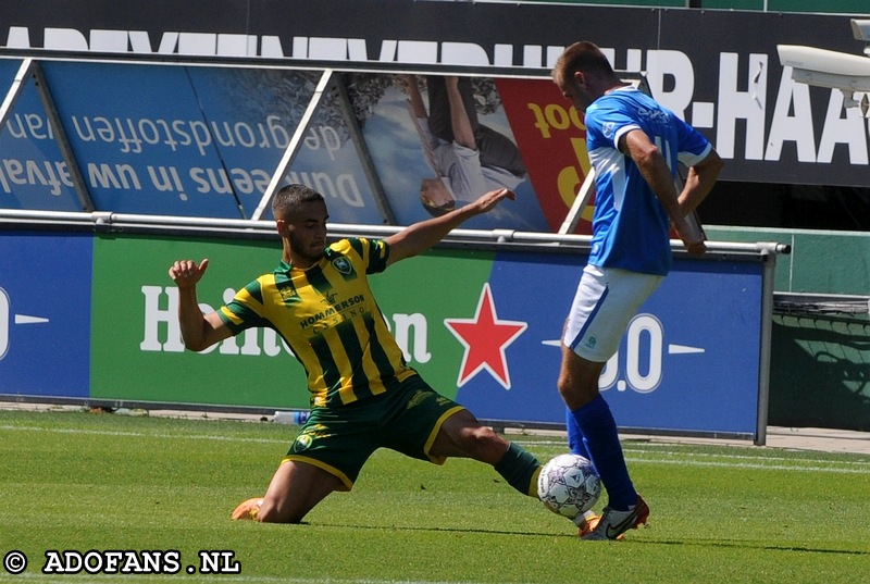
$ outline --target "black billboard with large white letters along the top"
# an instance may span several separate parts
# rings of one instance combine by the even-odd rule
[[[776,46],[859,55],[849,17],[411,0],[5,0],[0,54],[546,78],[593,40],[712,140],[725,181],[865,186],[868,123]]]

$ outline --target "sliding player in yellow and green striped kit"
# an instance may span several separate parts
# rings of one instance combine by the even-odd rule
[[[283,261],[229,303],[209,314],[199,308],[196,286],[209,260],[182,260],[170,268],[188,349],[201,351],[246,328],[271,326],[308,375],[310,418],[265,495],[239,505],[234,519],[298,523],[332,492],[350,490],[368,458],[382,447],[437,464],[448,457],[480,460],[520,493],[537,496],[540,465],[535,457],[481,425],[408,366],[368,283],[369,274],[424,252],[506,198],[514,194],[492,190],[386,239],[347,238],[327,246],[323,197],[289,185],[272,201]]]

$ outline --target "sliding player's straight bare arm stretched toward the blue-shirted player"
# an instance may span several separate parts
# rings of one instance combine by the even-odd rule
[[[469,219],[490,211],[504,199],[514,200],[515,198],[517,195],[507,188],[490,190],[476,200],[445,215],[414,223],[399,233],[390,235],[386,239],[387,244],[389,244],[389,260],[387,263],[393,264],[405,258],[423,253]]]

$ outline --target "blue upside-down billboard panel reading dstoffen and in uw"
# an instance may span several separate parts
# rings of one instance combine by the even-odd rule
[[[45,74],[97,209],[241,219],[233,188],[202,191],[187,171],[222,164],[185,69],[53,62]]]

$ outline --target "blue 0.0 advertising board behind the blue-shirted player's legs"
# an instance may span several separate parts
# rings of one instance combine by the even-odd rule
[[[564,254],[498,254],[482,291],[492,315],[478,310],[470,320],[480,343],[500,336],[502,356],[487,374],[460,371],[460,402],[482,419],[563,423],[560,335],[584,264]],[[755,433],[762,275],[761,261],[674,262],[601,374],[620,426]]]

